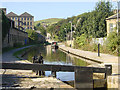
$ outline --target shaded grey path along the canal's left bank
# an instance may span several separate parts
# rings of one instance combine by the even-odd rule
[[[8,52],[5,52],[2,54],[2,62],[16,62],[16,61],[19,61],[18,58],[16,58],[15,56],[13,56],[13,54],[16,52],[16,51],[19,51],[21,49],[24,49],[24,48],[28,48],[28,47],[31,47],[32,45],[30,46],[26,46],[26,47],[22,47],[22,48],[18,48],[18,49],[14,49],[14,50],[11,50],[11,51],[8,51]]]

